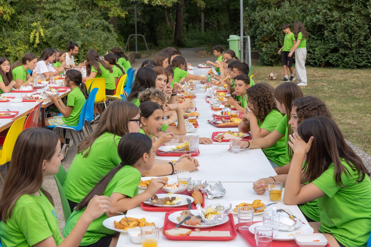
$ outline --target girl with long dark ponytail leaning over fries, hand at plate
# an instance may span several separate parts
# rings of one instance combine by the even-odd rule
[[[148,136],[139,133],[124,135],[118,143],[117,152],[121,159],[119,165],[108,172],[83,198],[63,228],[63,235],[68,236],[81,215],[85,213],[86,205],[95,195],[109,197],[110,209],[89,225],[82,238],[81,246],[116,246],[118,240],[118,237],[114,236],[116,231],[106,228],[103,221],[119,215],[117,211],[126,213],[129,209],[152,198],[167,184],[164,178],[155,178],[148,185],[147,190],[138,194],[142,172],[150,170],[155,161],[155,151]]]

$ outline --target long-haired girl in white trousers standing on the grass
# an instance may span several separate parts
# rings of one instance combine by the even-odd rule
[[[295,70],[296,76],[298,76],[298,86],[306,86],[306,40],[308,39],[308,33],[306,32],[303,24],[299,21],[294,22],[294,36],[296,44],[291,48],[289,57],[295,52]]]

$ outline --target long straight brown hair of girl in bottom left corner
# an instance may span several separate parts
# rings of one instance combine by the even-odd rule
[[[53,204],[52,196],[42,188],[42,163],[53,157],[58,140],[55,132],[44,128],[28,128],[18,136],[0,200],[1,220],[5,223],[22,195],[40,190]]]

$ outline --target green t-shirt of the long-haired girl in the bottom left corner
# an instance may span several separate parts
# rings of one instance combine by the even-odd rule
[[[0,221],[0,238],[4,247],[34,246],[52,236],[56,245],[62,243],[58,225],[58,215],[39,190],[41,196],[34,194],[22,195],[14,205],[6,224]]]

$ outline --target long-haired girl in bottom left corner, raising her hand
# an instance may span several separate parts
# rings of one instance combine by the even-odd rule
[[[3,246],[77,247],[93,220],[108,210],[107,196],[92,197],[75,227],[62,236],[53,198],[42,186],[45,176],[58,173],[62,158],[55,132],[29,128],[18,136],[0,200]]]

